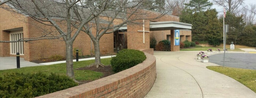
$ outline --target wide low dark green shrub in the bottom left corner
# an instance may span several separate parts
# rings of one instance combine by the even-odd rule
[[[1,98],[31,98],[77,86],[64,75],[51,73],[9,73],[0,76]]]

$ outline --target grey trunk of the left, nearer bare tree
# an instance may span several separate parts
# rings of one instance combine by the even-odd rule
[[[75,80],[74,68],[73,68],[73,41],[65,41],[66,44],[66,67],[67,76]]]

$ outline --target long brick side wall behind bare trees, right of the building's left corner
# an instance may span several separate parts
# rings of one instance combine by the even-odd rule
[[[35,23],[34,20],[31,20],[31,23]],[[37,26],[45,27],[42,24],[37,24]],[[38,30],[37,26],[29,25],[29,35],[30,37],[38,37],[42,35],[42,31]],[[50,29],[51,27],[46,26],[45,29]],[[51,28],[51,30],[55,30]],[[95,30],[93,30],[95,31]],[[74,33],[74,32],[73,32]],[[57,31],[54,31],[54,35],[59,35]],[[114,43],[113,43],[113,34],[104,34],[103,37],[100,39],[100,52],[101,54],[113,53],[114,52]],[[65,56],[66,54],[66,46],[63,38],[60,39],[52,39],[52,40],[38,40],[32,41],[36,44],[30,44],[29,50],[29,61],[42,59],[42,58],[49,58],[53,55],[62,55]],[[92,50],[91,50],[92,46]],[[91,42],[90,37],[84,33],[80,32],[73,43],[73,51],[78,49],[81,55],[90,55],[91,52],[94,53],[94,46],[93,42]],[[75,54],[74,54],[75,55]],[[26,60],[26,59],[25,59]]]

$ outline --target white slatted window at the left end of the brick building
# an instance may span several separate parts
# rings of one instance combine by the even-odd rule
[[[22,32],[10,33],[10,41],[17,41],[22,38],[23,38]],[[24,54],[23,42],[11,42],[10,52],[11,54],[16,54],[17,52],[19,52],[19,54]]]

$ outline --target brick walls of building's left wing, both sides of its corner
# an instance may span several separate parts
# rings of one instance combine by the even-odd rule
[[[16,29],[23,27],[23,38],[35,38],[44,35],[43,30],[53,31],[53,35],[59,35],[57,30],[50,26],[45,26],[35,20],[25,17],[23,15],[12,14],[9,11],[0,8],[0,40],[10,41],[10,33],[4,30]],[[22,21],[21,21],[22,20]],[[25,21],[27,23],[25,23]],[[65,27],[63,27],[65,30]],[[94,30],[95,31],[95,30]],[[101,54],[108,54],[114,52],[114,35],[104,34],[100,39],[100,52]],[[92,51],[91,51],[92,44]],[[0,43],[0,56],[15,56],[10,55],[10,44]],[[94,52],[93,43],[91,43],[90,38],[84,32],[81,32],[75,39],[73,48],[81,50],[82,55],[90,55]],[[51,40],[38,40],[24,42],[24,55],[21,55],[27,61],[49,58],[53,55],[65,56],[65,42],[62,38],[51,39]]]

